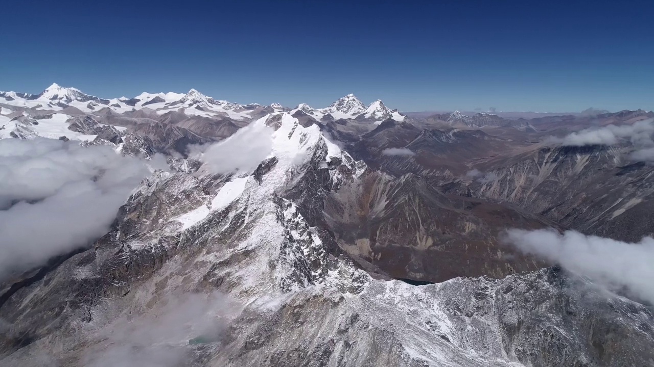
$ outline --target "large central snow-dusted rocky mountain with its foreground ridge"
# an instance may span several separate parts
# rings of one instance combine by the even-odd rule
[[[88,116],[74,123],[97,129]],[[388,133],[398,144],[402,135],[391,129],[421,131],[385,125],[373,142]],[[425,148],[442,154],[445,141],[427,131],[434,138]],[[91,246],[10,279],[0,302],[11,325],[3,365],[40,366],[45,355],[57,365],[113,366],[126,351],[145,362],[182,361],[157,366],[230,367],[626,367],[654,357],[651,307],[600,293],[558,266],[513,274],[515,257],[487,255],[495,251],[483,232],[475,246],[452,251],[453,236],[489,231],[496,222],[482,219],[500,203],[485,207],[465,190],[445,197],[417,175],[375,170],[288,113],[237,134],[201,161],[156,170]],[[246,168],[216,174],[213,160],[233,150],[248,156],[235,159]],[[430,251],[434,263],[421,262]],[[504,272],[477,263],[494,260]],[[470,261],[493,277],[442,271]],[[404,272],[447,280],[417,285]]]

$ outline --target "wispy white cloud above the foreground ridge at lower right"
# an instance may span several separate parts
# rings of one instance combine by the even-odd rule
[[[628,244],[576,231],[560,234],[547,229],[511,229],[506,241],[609,289],[627,287],[634,295],[654,304],[654,238]]]

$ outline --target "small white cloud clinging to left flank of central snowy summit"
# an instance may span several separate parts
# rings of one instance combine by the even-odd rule
[[[251,123],[234,135],[212,144],[201,155],[215,174],[254,170],[273,150],[274,131],[262,123]]]

